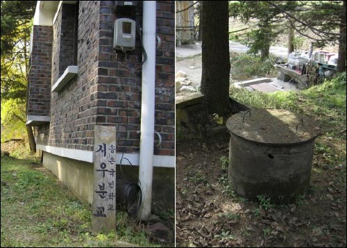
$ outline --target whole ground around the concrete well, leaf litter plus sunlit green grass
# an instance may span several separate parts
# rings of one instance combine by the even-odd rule
[[[292,204],[239,197],[228,185],[228,133],[203,138],[180,128],[176,142],[177,247],[346,247],[346,74],[298,93],[232,97],[255,108],[314,117],[310,187]]]

